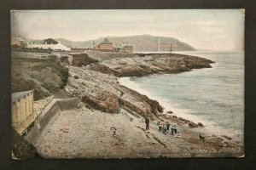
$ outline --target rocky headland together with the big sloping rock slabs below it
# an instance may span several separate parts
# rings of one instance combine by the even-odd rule
[[[108,53],[107,53],[108,54]],[[120,107],[152,119],[163,112],[155,100],[122,86],[118,77],[141,77],[159,73],[178,73],[211,68],[213,61],[183,54],[133,54],[129,57],[74,54],[67,65],[70,77],[66,91],[90,108],[118,113]],[[120,54],[119,54],[120,55]],[[65,61],[64,61],[65,62]]]

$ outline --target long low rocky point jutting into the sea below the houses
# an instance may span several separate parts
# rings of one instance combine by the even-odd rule
[[[154,73],[179,73],[192,69],[211,68],[212,60],[183,54],[94,54],[101,64],[87,66],[117,77],[142,77]],[[109,56],[108,56],[109,55]]]

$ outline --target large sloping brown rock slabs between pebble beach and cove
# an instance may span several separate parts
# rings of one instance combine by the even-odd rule
[[[81,99],[88,108],[109,113],[119,113],[125,109],[131,114],[152,118],[163,111],[157,101],[120,85],[116,77],[79,67],[68,68],[71,76],[66,90],[73,97]]]

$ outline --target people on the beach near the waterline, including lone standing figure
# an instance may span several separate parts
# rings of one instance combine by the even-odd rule
[[[148,117],[145,118],[146,123],[146,130],[149,130],[149,119]],[[175,138],[182,138],[177,131],[177,126],[175,124],[171,124],[170,122],[164,120],[161,120],[160,122],[157,122],[156,125],[158,126],[158,132],[160,133],[171,133],[171,135],[174,135]]]

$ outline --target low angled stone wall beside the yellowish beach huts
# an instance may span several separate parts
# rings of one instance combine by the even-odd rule
[[[50,122],[53,122],[55,116],[61,113],[61,111],[71,110],[79,104],[79,99],[53,99],[49,105],[44,108],[42,114],[38,116],[38,121],[34,123],[34,126],[28,131],[24,137],[26,141],[34,144],[40,134],[44,132]]]

